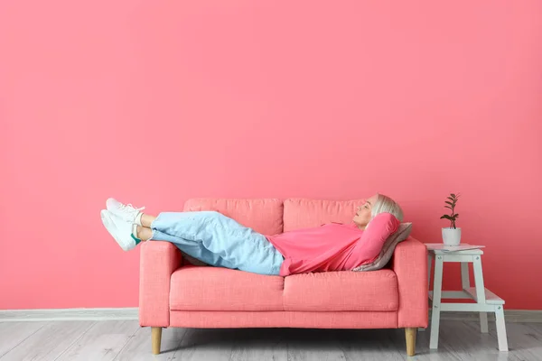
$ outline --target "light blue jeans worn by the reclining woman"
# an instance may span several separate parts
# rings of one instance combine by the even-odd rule
[[[172,242],[210,265],[278,275],[284,261],[266,236],[215,211],[160,213],[151,228],[151,240]]]

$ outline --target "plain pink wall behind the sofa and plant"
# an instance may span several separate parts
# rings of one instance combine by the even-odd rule
[[[1,2],[0,309],[137,305],[109,196],[376,191],[426,243],[461,191],[488,288],[542,309],[542,5],[360,3]]]

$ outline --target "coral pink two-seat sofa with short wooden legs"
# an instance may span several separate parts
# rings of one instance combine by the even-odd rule
[[[322,223],[350,223],[360,200],[189,199],[185,211],[217,210],[264,235]],[[152,328],[406,329],[414,355],[416,328],[427,327],[425,245],[408,237],[388,267],[373,272],[287,277],[198,266],[168,242],[141,245],[139,323]]]

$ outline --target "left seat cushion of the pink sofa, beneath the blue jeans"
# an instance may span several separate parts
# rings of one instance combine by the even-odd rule
[[[284,278],[186,265],[172,274],[171,310],[284,310]]]

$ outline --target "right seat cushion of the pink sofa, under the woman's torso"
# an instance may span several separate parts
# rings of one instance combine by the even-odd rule
[[[293,274],[284,300],[288,311],[397,310],[397,276],[389,269]]]

